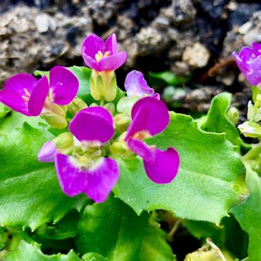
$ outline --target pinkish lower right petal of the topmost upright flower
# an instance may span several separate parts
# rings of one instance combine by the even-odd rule
[[[115,69],[121,67],[127,58],[126,52],[118,52],[108,57],[100,59],[98,65],[99,69],[97,71],[115,71]]]

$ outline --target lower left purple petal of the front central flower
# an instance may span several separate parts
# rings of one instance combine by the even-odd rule
[[[56,155],[56,173],[60,187],[68,196],[77,196],[87,188],[88,172],[79,170],[70,160],[70,157],[63,154]]]

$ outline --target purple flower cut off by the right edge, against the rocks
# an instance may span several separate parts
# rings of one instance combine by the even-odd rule
[[[261,82],[261,45],[253,43],[252,47],[243,47],[239,54],[233,52],[232,56],[245,78],[256,86]]]

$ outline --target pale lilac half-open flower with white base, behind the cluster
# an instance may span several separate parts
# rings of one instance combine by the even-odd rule
[[[150,96],[159,100],[159,93],[155,93],[155,91],[148,86],[140,71],[133,70],[128,73],[124,87],[128,97],[139,96],[139,98],[144,98]]]

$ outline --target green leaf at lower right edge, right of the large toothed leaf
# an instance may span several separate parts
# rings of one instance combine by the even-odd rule
[[[247,167],[247,188],[249,197],[240,206],[231,209],[231,213],[240,223],[242,229],[249,234],[249,260],[260,260],[261,256],[261,178]]]

